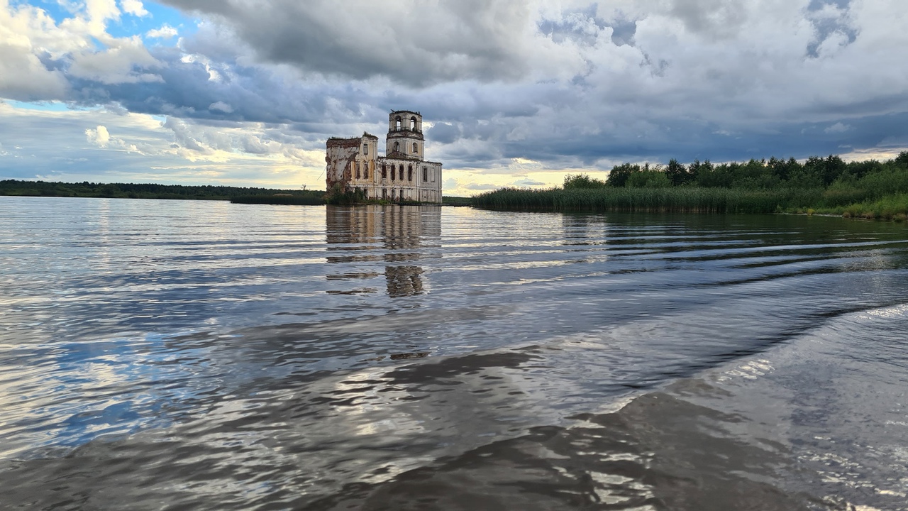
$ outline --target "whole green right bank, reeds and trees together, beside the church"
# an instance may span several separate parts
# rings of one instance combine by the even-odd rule
[[[903,219],[908,214],[908,152],[883,162],[812,156],[744,163],[615,165],[606,179],[568,175],[548,190],[507,188],[474,197],[494,208],[832,213]]]

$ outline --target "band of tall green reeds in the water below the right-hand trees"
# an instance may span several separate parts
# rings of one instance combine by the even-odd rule
[[[779,213],[809,207],[822,197],[823,190],[819,188],[503,188],[473,197],[473,205],[491,209],[556,211]]]

